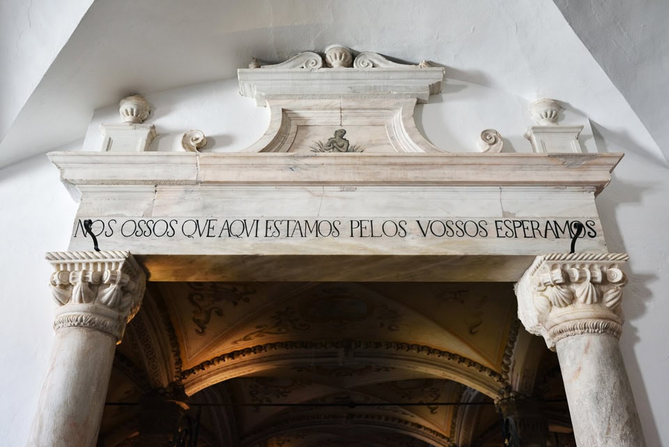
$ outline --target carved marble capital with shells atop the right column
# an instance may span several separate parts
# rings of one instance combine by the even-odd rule
[[[539,256],[516,283],[518,317],[546,339],[551,349],[562,338],[583,333],[620,336],[622,287],[627,282],[619,253],[553,253]]]

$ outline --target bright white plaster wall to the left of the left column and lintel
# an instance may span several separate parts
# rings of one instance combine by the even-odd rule
[[[52,268],[44,255],[67,250],[76,210],[58,169],[45,156],[0,170],[1,447],[27,441],[53,341]]]

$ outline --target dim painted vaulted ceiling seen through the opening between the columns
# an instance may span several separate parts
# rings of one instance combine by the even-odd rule
[[[515,306],[507,283],[152,283],[99,445],[131,445],[142,396],[178,384],[200,447],[493,446],[512,370],[569,432],[557,359],[518,350]]]

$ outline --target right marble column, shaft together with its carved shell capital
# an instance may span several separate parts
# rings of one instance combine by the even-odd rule
[[[576,445],[643,447],[618,338],[627,255],[539,256],[516,284],[518,317],[557,351]]]

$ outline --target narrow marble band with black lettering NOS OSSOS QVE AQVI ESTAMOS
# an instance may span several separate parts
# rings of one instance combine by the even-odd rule
[[[72,248],[91,244],[82,218],[72,229]],[[477,253],[565,251],[578,231],[580,245],[605,247],[598,220],[583,218],[93,218],[92,232],[105,250],[205,253]],[[206,250],[203,250],[206,248]]]

